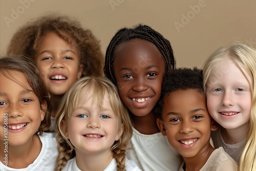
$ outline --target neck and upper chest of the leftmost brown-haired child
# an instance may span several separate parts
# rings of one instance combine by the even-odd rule
[[[33,135],[25,144],[19,146],[12,146],[8,144],[8,153],[4,153],[4,141],[0,140],[0,157],[1,162],[4,163],[5,154],[8,154],[8,167],[11,168],[26,168],[34,162],[41,151],[41,141],[38,135]]]

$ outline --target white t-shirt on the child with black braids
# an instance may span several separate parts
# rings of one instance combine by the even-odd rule
[[[133,127],[131,140],[134,149],[126,150],[126,157],[142,170],[178,170],[183,159],[162,133],[145,135]]]

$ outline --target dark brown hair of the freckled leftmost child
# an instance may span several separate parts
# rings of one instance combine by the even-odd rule
[[[47,104],[47,109],[41,109],[45,112],[45,118],[41,121],[39,129],[36,134],[42,135],[42,132],[49,131],[51,125],[51,102],[50,96],[47,93],[44,81],[42,80],[39,71],[36,68],[34,60],[26,56],[3,56],[0,57],[0,74],[3,74],[12,81],[20,84],[16,80],[15,75],[11,74],[10,71],[18,71],[23,73],[27,77],[33,92],[37,96],[40,104]],[[22,84],[20,84],[23,86]],[[23,86],[24,87],[24,86]]]

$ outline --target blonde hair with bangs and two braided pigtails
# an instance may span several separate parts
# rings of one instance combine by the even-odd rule
[[[117,162],[118,170],[125,170],[125,150],[129,149],[127,144],[131,141],[133,130],[130,116],[126,107],[121,102],[118,91],[114,84],[104,77],[83,77],[79,79],[62,98],[56,114],[56,140],[58,142],[59,155],[57,158],[56,170],[61,170],[67,161],[75,156],[75,148],[65,137],[61,121],[68,121],[72,112],[82,97],[86,97],[89,91],[93,91],[93,100],[101,108],[104,95],[108,95],[111,108],[117,118],[119,125],[123,124],[123,134],[111,149]]]

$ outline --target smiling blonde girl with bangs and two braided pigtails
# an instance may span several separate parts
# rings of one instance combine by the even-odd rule
[[[140,170],[125,157],[132,123],[109,79],[78,80],[60,102],[56,120],[56,170]]]

